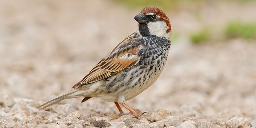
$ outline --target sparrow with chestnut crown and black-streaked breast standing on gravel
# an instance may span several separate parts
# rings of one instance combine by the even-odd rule
[[[115,46],[70,91],[60,94],[38,108],[44,109],[64,99],[91,97],[114,102],[120,114],[120,105],[138,118],[141,116],[125,101],[142,93],[159,77],[165,67],[171,42],[171,24],[166,14],[157,7],[143,8],[134,19],[138,31]],[[120,104],[120,105],[119,105]]]

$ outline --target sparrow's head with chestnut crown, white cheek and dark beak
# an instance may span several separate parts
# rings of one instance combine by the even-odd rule
[[[134,19],[139,23],[142,35],[170,38],[171,24],[166,14],[157,7],[146,7]]]

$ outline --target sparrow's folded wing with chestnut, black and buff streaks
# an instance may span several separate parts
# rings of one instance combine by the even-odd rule
[[[80,82],[72,88],[93,83],[122,70],[134,66],[139,62],[139,51],[143,49],[141,37],[133,33],[120,42],[105,58],[103,58]]]

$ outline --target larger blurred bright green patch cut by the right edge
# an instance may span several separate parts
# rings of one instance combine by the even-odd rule
[[[227,25],[225,34],[227,38],[256,38],[256,24],[231,22]]]

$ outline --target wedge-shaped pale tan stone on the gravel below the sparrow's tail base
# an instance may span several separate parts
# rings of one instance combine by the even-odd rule
[[[78,111],[72,112],[70,113],[67,117],[65,117],[64,119],[59,120],[57,123],[61,124],[64,123],[66,125],[71,125],[71,124],[75,124],[76,122],[79,121],[79,117],[80,117],[80,113]]]

